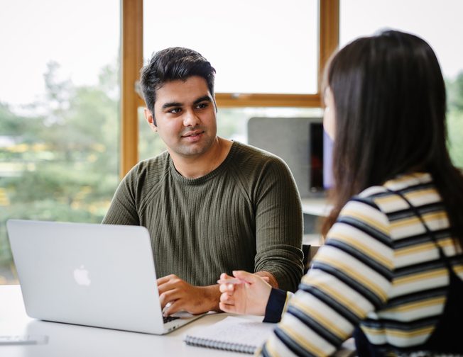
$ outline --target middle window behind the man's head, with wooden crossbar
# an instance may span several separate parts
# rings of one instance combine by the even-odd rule
[[[183,11],[173,18],[171,3],[143,1],[143,64],[165,47],[202,53],[217,70],[219,135],[246,142],[253,116],[320,115],[304,107],[320,107],[320,68],[337,45],[337,1],[290,0],[281,6],[275,0],[239,0],[226,7],[178,0],[175,6]],[[165,149],[140,109],[138,128],[139,159]]]

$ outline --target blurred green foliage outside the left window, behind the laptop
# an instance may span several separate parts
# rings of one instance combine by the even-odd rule
[[[11,263],[6,220],[101,222],[119,182],[116,70],[104,67],[96,86],[60,81],[58,71],[48,64],[45,103],[31,105],[45,114],[0,103],[0,266]]]

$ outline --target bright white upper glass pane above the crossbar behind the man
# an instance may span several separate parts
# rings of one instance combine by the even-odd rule
[[[143,57],[165,47],[190,47],[217,70],[217,93],[314,94],[317,4],[145,0]]]

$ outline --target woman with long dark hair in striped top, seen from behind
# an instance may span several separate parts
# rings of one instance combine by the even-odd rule
[[[434,52],[389,30],[339,50],[325,81],[325,245],[289,303],[236,271],[238,283],[221,276],[220,308],[264,321],[283,312],[263,355],[326,356],[352,335],[359,356],[463,353],[463,176],[447,152]]]

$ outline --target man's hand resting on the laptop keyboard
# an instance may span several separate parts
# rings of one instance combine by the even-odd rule
[[[194,286],[173,274],[158,279],[160,305],[164,315],[185,310],[191,314],[219,310],[219,285]]]

